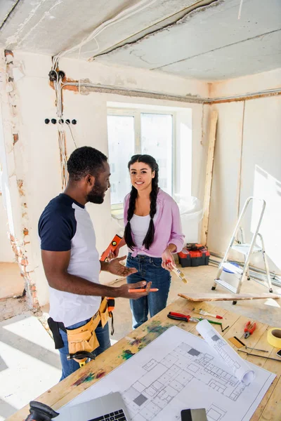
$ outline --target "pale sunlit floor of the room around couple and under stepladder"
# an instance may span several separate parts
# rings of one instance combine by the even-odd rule
[[[192,267],[182,269],[188,284],[174,274],[172,276],[169,303],[176,300],[178,293],[188,291],[208,292],[211,290],[216,267]],[[281,294],[281,288],[274,287]],[[226,292],[218,287],[218,292]],[[242,292],[266,292],[266,288],[254,281],[245,281]],[[281,305],[281,300],[277,300]],[[237,302],[216,302],[249,319],[281,327],[281,307],[268,307],[265,300]],[[1,302],[0,302],[1,306]],[[60,358],[53,347],[53,340],[44,328],[47,309],[41,319],[30,312],[24,312],[0,323],[0,421],[55,385],[60,378]],[[115,334],[112,342],[131,331],[129,301],[119,298],[115,305]]]

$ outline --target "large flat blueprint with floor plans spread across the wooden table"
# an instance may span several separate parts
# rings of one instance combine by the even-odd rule
[[[249,385],[205,340],[174,326],[67,406],[121,392],[132,421],[181,420],[187,408],[205,408],[208,421],[247,421],[275,378],[247,365],[255,375]]]

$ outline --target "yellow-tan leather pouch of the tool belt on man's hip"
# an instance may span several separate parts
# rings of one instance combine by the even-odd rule
[[[69,353],[76,354],[80,351],[93,352],[98,348],[100,344],[96,337],[95,330],[100,322],[101,326],[104,327],[107,323],[107,319],[107,299],[103,298],[98,312],[96,312],[88,323],[80,328],[66,329]]]

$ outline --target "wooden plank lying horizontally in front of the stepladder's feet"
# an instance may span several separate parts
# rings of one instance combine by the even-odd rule
[[[216,293],[178,293],[179,297],[189,301],[240,301],[240,300],[264,300],[265,298],[281,298],[281,295],[272,293],[255,294],[216,294]]]

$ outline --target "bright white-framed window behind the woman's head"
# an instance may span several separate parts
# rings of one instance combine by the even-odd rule
[[[112,208],[121,208],[131,190],[128,162],[149,154],[159,165],[159,187],[173,193],[174,114],[109,109],[107,115]]]

